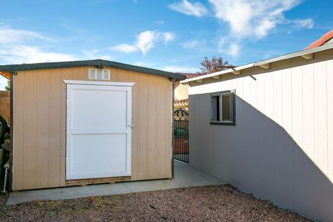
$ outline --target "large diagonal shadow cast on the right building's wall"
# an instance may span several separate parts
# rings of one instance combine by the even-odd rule
[[[236,126],[210,125],[210,94],[190,95],[189,105],[191,167],[281,207],[333,221],[332,182],[282,126],[238,96]]]

